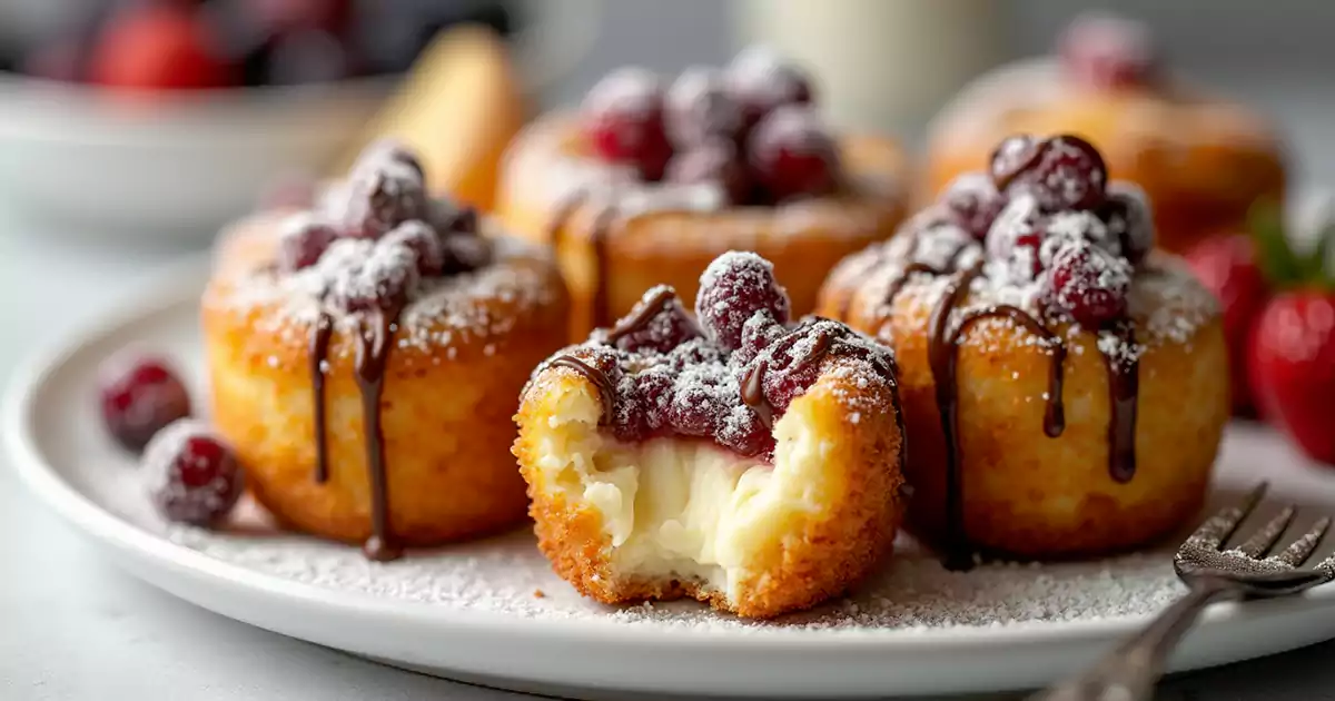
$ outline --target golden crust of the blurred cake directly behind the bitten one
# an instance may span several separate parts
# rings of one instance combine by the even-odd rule
[[[550,192],[554,178],[515,171],[571,167],[589,156],[578,151],[578,126],[569,118],[547,118],[511,146],[497,203],[497,216],[521,235],[547,240],[561,206]],[[873,182],[864,192],[848,192],[784,207],[732,207],[722,211],[645,211],[625,218],[606,239],[611,279],[606,319],[630,311],[645,290],[669,284],[690,306],[700,271],[729,250],[756,251],[774,263],[792,298],[793,314],[816,307],[825,272],[841,258],[870,242],[889,238],[904,219],[909,182],[908,159],[897,144],[874,136],[850,136],[841,158],[853,182]],[[587,163],[582,166],[587,167]],[[872,194],[872,192],[876,194]],[[557,255],[574,300],[570,338],[587,338],[597,287],[593,238],[601,204],[578,207],[555,236]]]

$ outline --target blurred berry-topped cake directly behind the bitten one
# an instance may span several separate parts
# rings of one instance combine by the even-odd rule
[[[700,270],[729,250],[772,260],[806,314],[834,263],[888,238],[905,211],[904,152],[834,134],[818,101],[798,67],[753,48],[670,84],[622,68],[577,113],[526,128],[502,166],[497,214],[555,247],[571,342],[655,284],[689,306]]]

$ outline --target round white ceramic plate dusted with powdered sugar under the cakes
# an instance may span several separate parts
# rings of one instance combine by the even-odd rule
[[[1036,686],[1087,664],[1180,593],[1163,550],[1104,562],[947,573],[912,547],[849,600],[772,624],[694,604],[613,609],[557,579],[525,531],[387,565],[267,530],[246,505],[228,534],[163,523],[134,462],[97,425],[96,366],[139,343],[200,386],[195,300],[206,267],[176,270],[17,375],[4,431],[37,498],[129,571],[248,624],[390,664],[546,692],[869,697]],[[1264,429],[1235,426],[1222,485],[1335,513],[1335,473]],[[1222,498],[1235,498],[1228,487]],[[1306,526],[1306,522],[1300,522]],[[39,537],[37,534],[29,534]],[[95,586],[93,582],[88,583]],[[541,592],[541,594],[539,594]],[[1335,588],[1210,610],[1173,669],[1335,637]]]

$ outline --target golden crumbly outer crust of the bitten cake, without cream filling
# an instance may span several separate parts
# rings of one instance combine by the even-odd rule
[[[746,554],[736,597],[692,579],[645,578],[615,569],[602,513],[578,491],[559,489],[541,467],[549,419],[559,411],[557,398],[569,391],[595,398],[597,389],[563,367],[541,371],[515,417],[519,439],[514,453],[529,482],[538,545],[553,569],[582,594],[605,604],[689,597],[748,618],[806,609],[844,593],[894,541],[904,454],[893,386],[881,378],[868,382],[840,373],[849,362],[826,358],[816,385],[776,426],[776,470],[785,470],[785,461],[804,459],[794,443],[809,438],[822,447],[818,463],[794,471],[786,487],[816,494],[820,507],[786,514],[774,535]]]

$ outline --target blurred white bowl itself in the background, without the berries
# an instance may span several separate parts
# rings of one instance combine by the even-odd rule
[[[319,174],[396,80],[135,97],[0,75],[0,207],[61,232],[198,242],[276,175]]]

